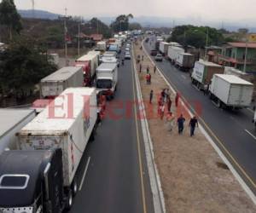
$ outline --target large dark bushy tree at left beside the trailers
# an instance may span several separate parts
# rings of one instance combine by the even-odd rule
[[[36,83],[56,70],[35,43],[19,39],[0,55],[0,82],[3,94],[13,91],[25,97]]]

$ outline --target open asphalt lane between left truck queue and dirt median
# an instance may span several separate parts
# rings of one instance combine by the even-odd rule
[[[108,102],[112,106],[79,164],[81,191],[72,213],[154,212],[142,130],[130,104],[134,100],[131,62],[125,60],[125,66],[119,67],[118,89],[114,101]]]

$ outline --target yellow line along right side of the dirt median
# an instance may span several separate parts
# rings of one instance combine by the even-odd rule
[[[160,68],[159,68],[159,69],[160,69]],[[161,70],[161,69],[160,69],[160,70]],[[162,72],[162,74],[166,77],[166,79],[169,79],[169,78],[167,78],[165,72],[163,72],[163,71],[161,71],[161,72]],[[173,83],[172,83],[172,87],[173,87],[174,89],[178,90],[177,87],[176,87],[175,85],[173,85]],[[182,97],[182,99],[183,99],[183,101],[185,101],[187,104],[189,104],[189,102],[186,100],[186,98],[184,98],[184,96]],[[201,118],[201,116],[198,115],[198,114],[195,112],[195,109],[194,109],[190,104],[189,104],[189,108],[190,108],[190,110],[192,109],[192,111],[197,115],[197,117],[201,120],[201,122],[204,124],[204,126],[207,128],[207,130],[210,132],[210,134],[214,137],[214,139],[215,139],[216,141],[218,141],[218,144],[224,149],[225,153],[228,154],[228,156],[229,156],[229,157],[231,158],[231,160],[236,164],[236,166],[239,168],[239,170],[241,170],[241,173],[242,173],[244,176],[247,177],[247,180],[253,185],[253,187],[256,187],[256,183],[255,183],[255,181],[253,181],[253,178],[250,177],[249,175],[247,175],[247,172],[246,172],[246,171],[242,168],[242,166],[237,162],[236,158],[233,157],[232,154],[230,153],[230,151],[224,146],[224,142],[222,142],[222,141],[220,141],[220,139],[218,139],[218,136],[213,133],[213,131],[212,131],[211,128],[206,124],[206,122],[204,121],[204,119]]]

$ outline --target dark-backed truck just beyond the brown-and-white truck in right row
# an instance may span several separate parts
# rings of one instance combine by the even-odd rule
[[[189,71],[194,67],[195,55],[189,53],[178,53],[175,66],[180,70]]]

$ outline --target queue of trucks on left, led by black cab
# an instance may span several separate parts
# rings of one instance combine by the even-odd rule
[[[43,78],[32,109],[0,109],[0,212],[71,208],[79,163],[104,108],[100,100],[117,89],[119,51],[105,47],[98,43],[102,53],[91,51]]]

